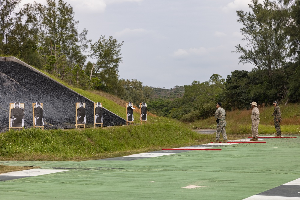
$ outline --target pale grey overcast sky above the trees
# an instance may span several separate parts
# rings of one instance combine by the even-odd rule
[[[37,2],[46,5],[46,0]],[[213,73],[226,79],[233,70],[253,68],[238,64],[239,54],[232,53],[235,45],[244,45],[235,11],[248,11],[250,0],[64,2],[73,7],[79,32],[86,28],[92,43],[101,35],[124,41],[120,78],[170,89],[207,81]]]

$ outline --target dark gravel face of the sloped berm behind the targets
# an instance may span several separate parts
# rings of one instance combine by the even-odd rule
[[[0,61],[0,131],[7,131],[9,103],[25,103],[25,127],[33,126],[32,103],[43,103],[46,129],[75,128],[75,103],[85,103],[86,127],[94,127],[94,102],[48,76],[12,61]],[[105,106],[105,105],[104,105]],[[125,125],[126,120],[103,109],[103,126]]]

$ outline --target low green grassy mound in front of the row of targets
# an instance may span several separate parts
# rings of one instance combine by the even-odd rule
[[[187,125],[150,117],[142,125],[73,130],[11,130],[0,135],[1,160],[89,160],[206,143]]]

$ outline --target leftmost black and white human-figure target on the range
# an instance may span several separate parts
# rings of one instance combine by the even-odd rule
[[[10,127],[24,127],[24,103],[10,103]]]

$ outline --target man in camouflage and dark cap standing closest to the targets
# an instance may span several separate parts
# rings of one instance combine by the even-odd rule
[[[214,113],[214,118],[217,118],[217,133],[216,133],[216,141],[213,143],[219,143],[220,140],[220,133],[222,133],[224,141],[222,143],[227,143],[227,135],[226,135],[226,121],[225,121],[225,110],[221,108],[222,103],[218,102],[216,107],[217,110]]]

